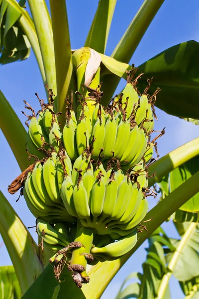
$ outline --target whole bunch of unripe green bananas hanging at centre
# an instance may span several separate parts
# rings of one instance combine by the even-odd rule
[[[37,218],[42,249],[53,254],[59,265],[67,259],[68,269],[78,287],[87,283],[87,263],[116,259],[131,250],[148,210],[147,165],[153,161],[157,138],[154,127],[154,101],[139,95],[137,79],[128,73],[122,93],[108,107],[101,105],[101,86],[77,92],[66,100],[66,124],[60,130],[54,112],[53,93],[49,104],[28,117],[27,151],[35,158],[8,187],[10,193],[22,188],[27,206]],[[139,76],[138,76],[139,77]],[[37,96],[38,97],[38,96]],[[27,124],[27,122],[26,122]],[[157,151],[157,149],[156,149]],[[151,193],[150,193],[151,192]],[[50,223],[50,224],[49,224]],[[138,228],[139,226],[139,228]]]

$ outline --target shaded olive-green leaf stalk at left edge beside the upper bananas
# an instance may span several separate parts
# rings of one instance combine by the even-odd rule
[[[25,152],[27,133],[1,91],[0,107],[0,129],[12,150],[21,171],[23,171],[29,165]]]

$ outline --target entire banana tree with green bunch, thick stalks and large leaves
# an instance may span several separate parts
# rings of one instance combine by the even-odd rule
[[[122,265],[168,217],[180,208],[198,211],[193,199],[199,192],[195,169],[146,214],[146,197],[155,194],[149,188],[199,155],[195,139],[156,161],[153,149],[164,130],[150,139],[155,133],[154,105],[177,117],[199,119],[198,43],[187,41],[166,49],[138,71],[128,64],[163,2],[145,0],[111,56],[106,56],[116,0],[99,1],[85,44],[77,50],[71,49],[65,0],[50,0],[50,11],[45,0],[0,1],[0,62],[26,59],[32,47],[47,96],[45,103],[36,95],[38,113],[24,101],[32,114],[23,113],[30,121],[27,133],[0,93],[0,128],[22,171],[8,191],[14,194],[21,188],[20,195],[39,218],[38,247],[1,193],[0,234],[24,299],[59,299],[65,294],[100,298]],[[153,76],[154,83],[148,79]],[[113,97],[120,78],[126,86]],[[13,126],[7,126],[8,119]],[[133,142],[138,146],[132,147]],[[55,177],[59,177],[56,183]],[[116,204],[118,182],[123,193]],[[124,194],[132,201],[139,198],[139,204],[132,208],[129,201],[120,209]],[[146,230],[143,218],[153,221],[146,222],[148,232],[137,240],[137,233]]]

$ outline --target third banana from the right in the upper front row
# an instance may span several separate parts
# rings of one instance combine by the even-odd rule
[[[130,122],[123,121],[122,119],[119,123],[119,126],[117,127],[117,136],[113,148],[114,157],[121,159],[126,149],[126,146],[128,144],[129,136],[130,136]]]

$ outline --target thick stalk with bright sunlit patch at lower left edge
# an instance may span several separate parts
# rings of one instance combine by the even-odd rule
[[[24,294],[43,271],[37,245],[7,199],[0,192],[0,234]]]

